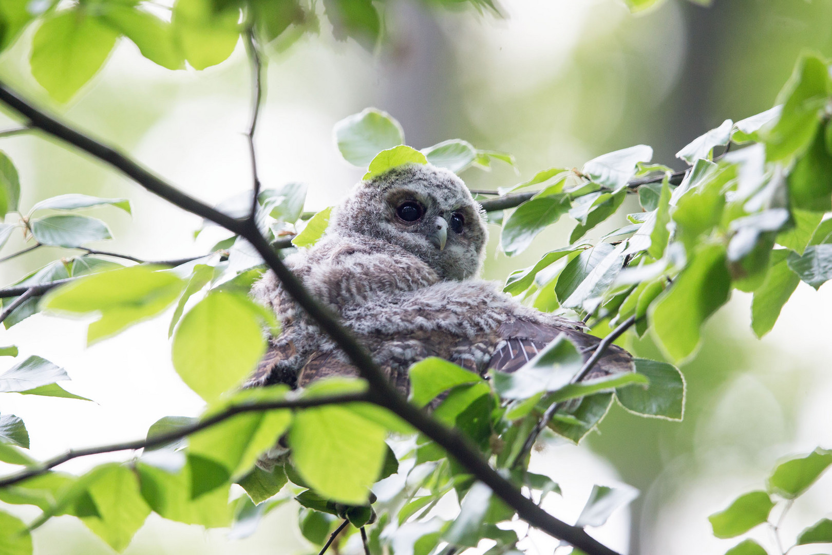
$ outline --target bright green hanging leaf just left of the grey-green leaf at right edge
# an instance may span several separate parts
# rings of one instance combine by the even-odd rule
[[[754,291],[751,301],[751,329],[757,337],[770,332],[774,327],[780,310],[794,293],[800,276],[789,267],[786,257],[788,250],[774,250],[771,253],[769,273],[763,284]]]

